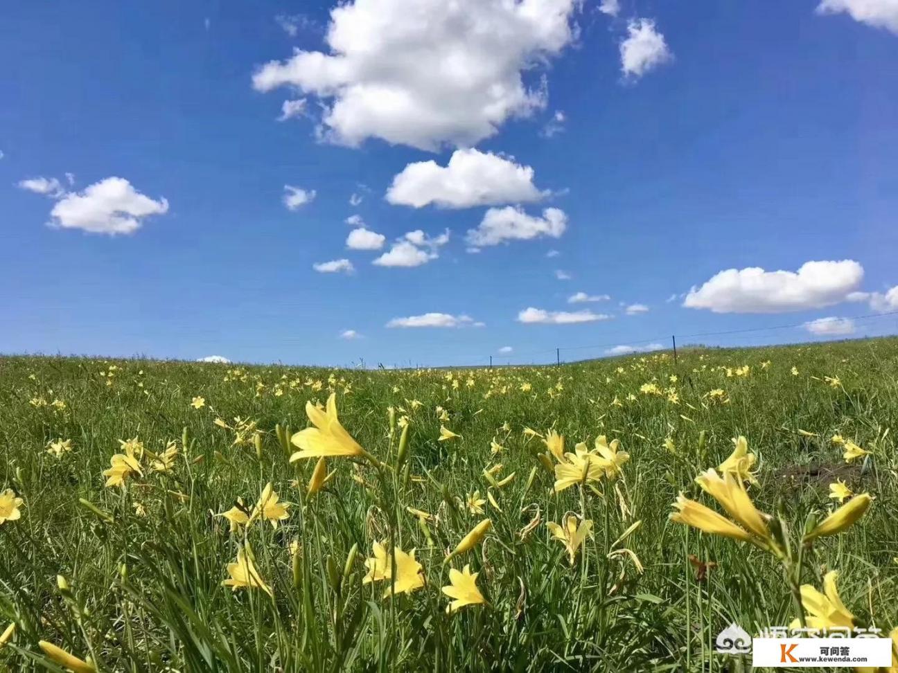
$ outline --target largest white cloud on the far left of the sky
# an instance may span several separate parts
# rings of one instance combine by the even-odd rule
[[[50,211],[50,226],[61,229],[81,229],[84,232],[136,232],[145,217],[168,212],[168,201],[158,201],[131,187],[124,178],[106,178],[93,183],[81,192],[50,191],[57,198]]]

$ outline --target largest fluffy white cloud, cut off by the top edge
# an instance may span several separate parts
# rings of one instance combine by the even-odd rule
[[[268,92],[291,86],[321,100],[322,135],[368,137],[436,150],[470,146],[509,117],[545,106],[541,66],[577,34],[578,0],[355,0],[330,11],[328,50],[296,49],[252,77]]]

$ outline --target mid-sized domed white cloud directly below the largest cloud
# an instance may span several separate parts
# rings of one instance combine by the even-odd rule
[[[547,195],[533,186],[533,168],[475,148],[455,150],[445,167],[409,163],[392,180],[387,201],[420,208],[446,208],[537,201]]]

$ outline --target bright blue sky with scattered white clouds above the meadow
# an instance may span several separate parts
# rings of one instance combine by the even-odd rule
[[[893,331],[893,3],[444,5],[7,4],[0,352],[457,364]],[[353,215],[381,249],[348,249]]]

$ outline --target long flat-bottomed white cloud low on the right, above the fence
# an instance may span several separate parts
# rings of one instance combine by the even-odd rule
[[[864,268],[852,259],[806,262],[796,272],[760,267],[726,269],[692,287],[682,305],[715,313],[786,313],[844,302],[858,289]]]

